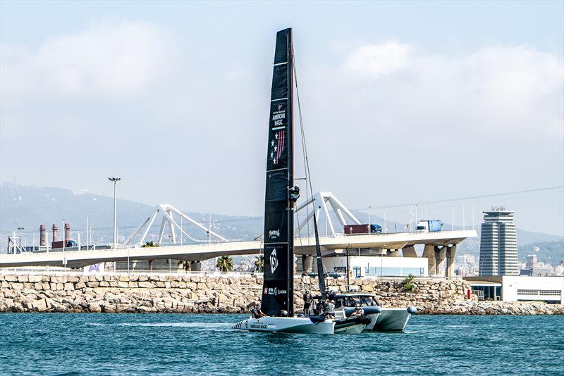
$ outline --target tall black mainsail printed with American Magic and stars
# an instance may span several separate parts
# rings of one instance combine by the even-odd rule
[[[292,29],[276,34],[270,101],[266,196],[264,205],[264,283],[261,311],[269,316],[294,303]]]

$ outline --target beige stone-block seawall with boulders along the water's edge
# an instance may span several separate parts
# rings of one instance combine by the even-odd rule
[[[415,306],[419,314],[539,315],[564,314],[564,306],[539,302],[470,301],[462,280],[414,280],[405,291],[401,280],[351,280],[358,292],[378,296],[384,307]],[[329,287],[345,292],[344,280]],[[204,275],[0,275],[0,312],[247,313],[260,298],[262,278]],[[295,279],[295,305],[301,294],[318,292],[317,279]]]

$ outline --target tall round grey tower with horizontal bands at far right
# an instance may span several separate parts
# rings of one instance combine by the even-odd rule
[[[514,211],[492,208],[484,211],[480,238],[479,275],[519,275],[517,263],[517,232]]]

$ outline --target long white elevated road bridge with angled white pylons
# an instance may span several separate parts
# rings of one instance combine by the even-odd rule
[[[319,203],[317,208],[311,208],[314,203]],[[394,232],[378,234],[341,234],[338,233],[333,224],[336,218],[341,228],[344,225],[360,224],[353,213],[351,213],[341,201],[331,192],[319,192],[296,208],[296,213],[306,211],[310,206],[309,213],[301,223],[298,223],[296,233],[298,237],[294,240],[295,254],[302,256],[298,263],[307,269],[311,264],[312,255],[315,253],[315,239],[312,234],[301,236],[313,218],[313,210],[317,210],[320,216],[326,216],[329,233],[319,238],[324,256],[335,256],[343,254],[346,250],[355,254],[373,256],[400,256],[417,257],[415,246],[424,245],[422,257],[429,260],[429,273],[436,272],[441,261],[447,259],[447,272],[452,267],[456,246],[468,237],[477,237],[475,230],[456,230],[439,232]],[[142,247],[145,238],[157,216],[162,215],[159,231],[159,243],[165,236],[171,239],[171,244],[163,244],[155,247]],[[178,225],[177,217],[188,220],[202,231],[207,232],[208,240],[197,240],[193,234],[183,230]],[[319,218],[319,217],[318,217]],[[318,219],[319,221],[319,219]],[[166,230],[170,234],[166,235]],[[175,231],[176,230],[176,231]],[[182,234],[192,240],[190,244],[178,244],[176,234]],[[140,235],[140,237],[139,237]],[[308,236],[309,235],[309,236]],[[213,241],[212,241],[213,238]],[[134,239],[138,239],[134,242]],[[216,234],[209,227],[192,220],[169,204],[159,204],[152,215],[145,219],[142,224],[126,239],[123,245],[113,249],[50,249],[45,252],[35,253],[0,253],[0,268],[13,268],[25,266],[57,266],[68,268],[80,268],[86,265],[102,262],[117,261],[141,261],[158,259],[176,259],[189,261],[204,261],[223,255],[257,255],[262,253],[263,242],[259,237],[254,240],[228,240]],[[300,262],[301,261],[301,262]]]

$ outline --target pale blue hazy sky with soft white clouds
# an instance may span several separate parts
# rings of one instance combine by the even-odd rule
[[[2,181],[111,195],[115,175],[124,199],[261,215],[275,35],[293,27],[314,190],[366,208],[564,185],[563,1],[0,11]],[[564,235],[561,189],[463,203]]]

